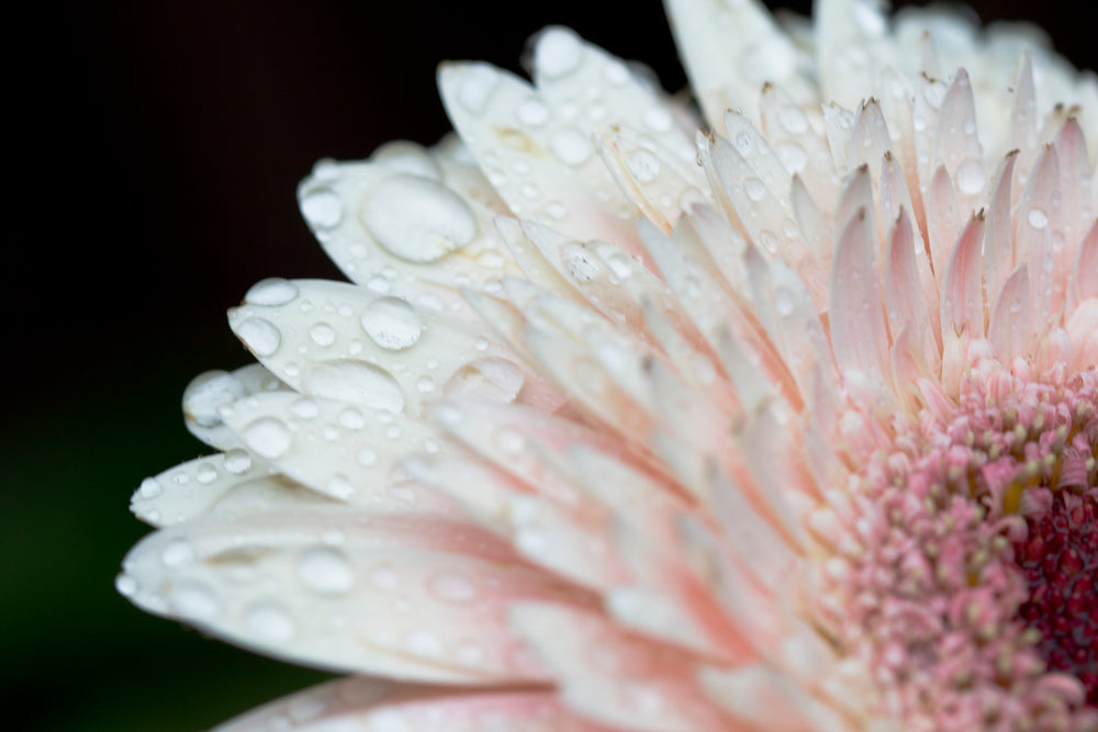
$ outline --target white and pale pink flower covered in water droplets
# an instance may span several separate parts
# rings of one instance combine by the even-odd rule
[[[668,5],[708,132],[551,27],[302,183],[117,583],[351,674],[225,729],[1098,729],[1098,83]]]

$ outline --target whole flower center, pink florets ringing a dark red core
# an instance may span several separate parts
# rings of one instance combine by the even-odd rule
[[[1098,372],[929,402],[821,511],[825,626],[910,729],[1098,729]]]

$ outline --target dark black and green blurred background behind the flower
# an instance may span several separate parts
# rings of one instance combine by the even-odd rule
[[[1094,67],[1073,4],[977,3],[985,20],[1042,23]],[[183,387],[249,360],[225,308],[261,278],[339,277],[294,202],[314,160],[435,142],[448,128],[437,61],[518,70],[549,23],[646,61],[665,88],[685,82],[652,0],[381,8],[119,1],[11,23],[25,45],[9,45],[23,50],[5,94],[0,694],[15,729],[203,729],[324,677],[113,589],[146,531],[130,494],[204,451],[182,427]]]

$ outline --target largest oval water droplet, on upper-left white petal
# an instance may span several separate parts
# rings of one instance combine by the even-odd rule
[[[394,176],[381,183],[360,215],[378,244],[414,263],[433,262],[477,235],[477,218],[464,200],[417,176]]]

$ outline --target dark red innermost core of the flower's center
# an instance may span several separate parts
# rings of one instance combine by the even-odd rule
[[[1027,527],[1027,540],[1015,544],[1030,590],[1019,613],[1040,631],[1049,669],[1078,678],[1098,707],[1098,491],[1056,494]]]

